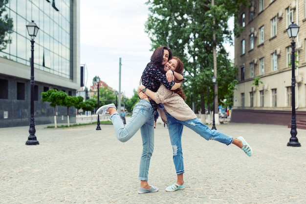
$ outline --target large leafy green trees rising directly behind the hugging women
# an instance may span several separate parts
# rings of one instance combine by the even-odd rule
[[[212,101],[213,46],[216,46],[219,100],[225,98],[237,68],[232,67],[223,44],[232,44],[233,34],[239,35],[241,31],[238,25],[230,30],[228,20],[237,17],[240,6],[249,5],[249,0],[215,0],[215,5],[211,0],[148,0],[147,4],[150,15],[145,30],[152,41],[152,50],[167,45],[182,60],[187,79],[182,85],[185,94],[189,96],[193,91],[195,100],[204,100],[209,87],[211,94],[206,103]]]

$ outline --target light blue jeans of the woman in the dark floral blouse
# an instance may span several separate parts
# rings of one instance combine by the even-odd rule
[[[150,102],[140,99],[134,106],[131,119],[124,126],[118,113],[110,115],[117,138],[126,142],[140,129],[142,155],[139,166],[139,180],[148,181],[150,160],[154,150],[154,109]]]

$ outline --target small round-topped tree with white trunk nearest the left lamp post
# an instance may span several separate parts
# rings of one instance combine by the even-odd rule
[[[63,101],[67,97],[67,93],[64,91],[57,91],[55,89],[50,89],[48,91],[42,92],[42,100],[43,102],[50,102],[50,106],[53,107],[53,115],[54,115],[54,127],[57,128],[56,122],[56,106],[61,106]]]

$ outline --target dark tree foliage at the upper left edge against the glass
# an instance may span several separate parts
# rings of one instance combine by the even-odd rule
[[[13,32],[13,19],[8,17],[5,4],[8,0],[0,0],[0,51],[6,49],[7,44],[12,42],[9,34]]]

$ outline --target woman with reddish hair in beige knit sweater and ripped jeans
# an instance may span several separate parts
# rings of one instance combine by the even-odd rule
[[[177,64],[179,65],[176,66],[176,68],[180,68],[174,68],[173,70],[178,73],[182,73],[181,67],[183,67],[183,65],[181,61],[176,57],[173,57],[170,61],[173,60],[176,60]],[[175,64],[175,62],[173,64]],[[149,96],[156,103],[158,103],[158,112],[162,120],[168,124],[169,136],[171,145],[173,147],[173,161],[175,164],[177,181],[175,184],[168,186],[166,191],[176,191],[185,188],[183,180],[183,173],[185,170],[181,143],[184,125],[195,131],[206,140],[216,140],[226,145],[234,144],[243,150],[247,156],[251,157],[253,155],[252,148],[242,136],[233,138],[232,136],[227,136],[224,133],[218,132],[217,130],[211,130],[206,125],[201,123],[201,121],[197,118],[197,115],[185,103],[185,95],[181,89],[170,91],[161,85],[157,92],[153,92],[150,89],[145,89],[144,85],[141,85],[137,92],[140,98]]]

